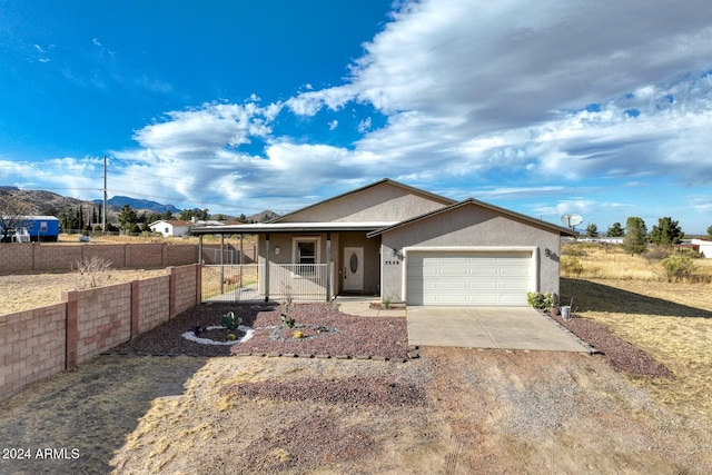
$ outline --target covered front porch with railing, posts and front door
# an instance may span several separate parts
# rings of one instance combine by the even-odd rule
[[[204,301],[332,301],[339,295],[380,296],[378,224],[254,224],[196,228],[202,237],[257,236],[254,264],[202,266]],[[221,256],[224,253],[219,253]]]

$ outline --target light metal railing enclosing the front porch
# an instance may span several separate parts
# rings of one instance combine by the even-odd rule
[[[327,269],[330,286],[327,286]],[[326,264],[264,264],[202,266],[204,301],[330,300],[334,266]],[[327,290],[327,287],[328,288]]]

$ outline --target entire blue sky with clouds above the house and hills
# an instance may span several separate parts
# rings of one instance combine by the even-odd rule
[[[712,2],[0,0],[0,185],[287,212],[384,177],[712,225]]]

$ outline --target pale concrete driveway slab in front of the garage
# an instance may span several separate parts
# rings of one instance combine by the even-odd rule
[[[591,353],[531,307],[407,307],[408,344]]]

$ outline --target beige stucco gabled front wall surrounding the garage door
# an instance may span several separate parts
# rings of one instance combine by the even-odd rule
[[[500,216],[474,204],[442,212],[382,235],[382,299],[404,299],[403,274],[407,247],[536,247],[537,288],[558,294],[560,235],[525,221]],[[545,249],[553,255],[547,257]]]

